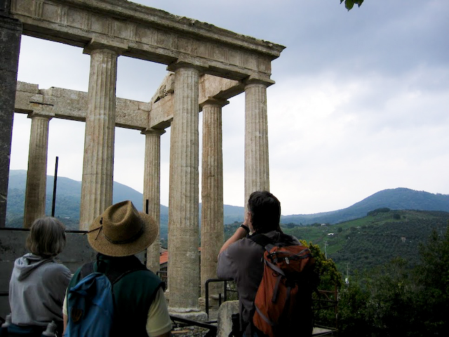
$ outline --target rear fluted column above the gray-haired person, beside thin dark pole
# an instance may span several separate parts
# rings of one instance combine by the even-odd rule
[[[25,190],[25,215],[23,227],[29,228],[34,220],[45,216],[47,187],[48,123],[52,116],[31,114],[31,134],[27,188]]]

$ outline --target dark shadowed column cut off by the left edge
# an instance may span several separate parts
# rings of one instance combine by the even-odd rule
[[[5,227],[9,161],[22,23],[8,18],[9,2],[0,7],[0,227]]]

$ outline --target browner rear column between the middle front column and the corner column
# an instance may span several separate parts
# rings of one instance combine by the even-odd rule
[[[206,297],[206,281],[217,278],[217,256],[223,242],[223,154],[222,107],[227,101],[203,103],[203,155],[201,175],[201,297]],[[216,296],[221,284],[211,283]]]

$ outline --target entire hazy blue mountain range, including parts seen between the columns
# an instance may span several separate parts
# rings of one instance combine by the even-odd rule
[[[6,209],[6,226],[20,227],[22,224],[25,204],[25,185],[27,171],[11,170],[9,174],[8,204]],[[69,227],[76,228],[79,220],[79,204],[81,199],[81,182],[65,177],[58,177],[55,203],[55,216],[65,219]],[[53,196],[53,176],[47,176],[46,210],[51,214]],[[121,200],[131,200],[136,208],[142,211],[142,193],[132,188],[114,182],[114,203]],[[347,209],[316,214],[298,214],[282,216],[281,223],[308,225],[311,223],[341,223],[342,221],[362,218],[374,209],[387,207],[389,209],[415,209],[422,211],[449,211],[448,194],[431,194],[424,191],[396,188],[383,190],[370,197],[349,206]],[[242,222],[244,208],[224,205],[225,224]],[[201,214],[201,204],[200,204]],[[161,234],[168,227],[168,207],[161,205]]]

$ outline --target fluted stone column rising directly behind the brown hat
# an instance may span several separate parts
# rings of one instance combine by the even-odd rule
[[[112,205],[117,57],[116,51],[93,49],[84,138],[80,229]]]

